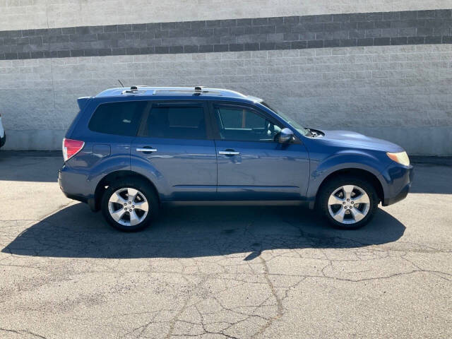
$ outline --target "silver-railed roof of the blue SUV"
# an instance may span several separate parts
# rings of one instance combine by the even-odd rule
[[[234,90],[225,90],[222,88],[196,87],[150,87],[150,86],[131,86],[130,88],[109,88],[97,94],[97,98],[124,98],[124,97],[146,97],[153,100],[225,100],[232,99],[245,102],[260,102],[258,97],[244,95]]]

